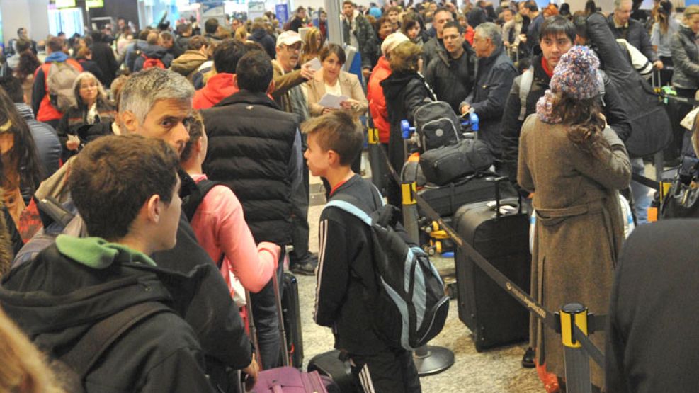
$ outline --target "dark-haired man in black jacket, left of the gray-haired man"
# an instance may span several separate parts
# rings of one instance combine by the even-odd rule
[[[464,40],[458,22],[450,21],[442,30],[445,50],[437,52],[425,70],[425,80],[437,97],[449,103],[455,113],[473,88],[475,53]]]

